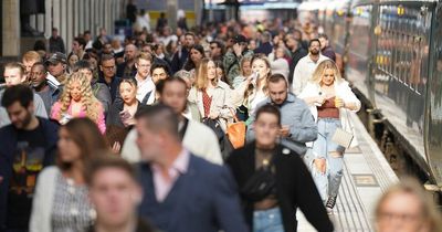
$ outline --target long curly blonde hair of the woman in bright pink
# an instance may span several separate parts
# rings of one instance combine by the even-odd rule
[[[98,110],[97,107],[101,107],[101,103],[98,99],[94,96],[94,93],[92,92],[91,83],[87,81],[87,77],[85,74],[81,72],[76,72],[70,75],[70,77],[66,81],[66,84],[64,86],[64,91],[62,93],[62,96],[60,97],[60,102],[62,104],[60,114],[66,113],[72,101],[71,96],[71,88],[72,84],[74,82],[78,82],[81,86],[81,92],[82,92],[82,105],[83,108],[86,112],[86,116],[94,120],[95,123],[98,122]],[[60,115],[57,115],[60,117]]]

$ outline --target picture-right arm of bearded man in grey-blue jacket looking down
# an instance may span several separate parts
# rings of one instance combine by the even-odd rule
[[[291,127],[290,138],[299,143],[316,140],[318,129],[311,110],[304,103],[299,105],[298,110],[302,112],[301,117],[299,120],[295,123],[295,126]]]

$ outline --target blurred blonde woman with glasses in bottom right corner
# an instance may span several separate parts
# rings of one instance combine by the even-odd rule
[[[432,199],[412,178],[403,178],[382,194],[376,207],[378,232],[440,232],[441,213]]]

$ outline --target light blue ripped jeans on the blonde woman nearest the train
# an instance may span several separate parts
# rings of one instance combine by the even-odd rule
[[[341,127],[338,118],[319,118],[318,119],[318,138],[314,141],[312,152],[313,159],[326,159],[326,172],[320,173],[312,164],[312,176],[319,191],[323,201],[327,197],[337,197],[343,178],[345,148],[332,140],[336,128]],[[332,156],[330,152],[339,152],[340,156]]]

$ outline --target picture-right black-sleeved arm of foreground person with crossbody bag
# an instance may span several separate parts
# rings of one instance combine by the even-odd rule
[[[297,167],[296,167],[297,166]],[[319,192],[313,181],[313,178],[305,166],[305,164],[299,160],[297,164],[293,164],[294,179],[296,181],[296,200],[301,211],[303,211],[307,221],[318,231],[318,232],[332,232],[334,231],[330,219],[327,215],[323,201],[320,199]]]

